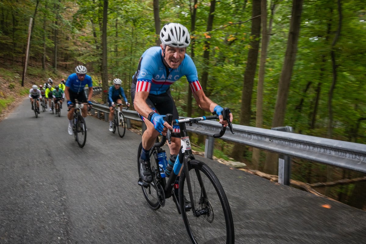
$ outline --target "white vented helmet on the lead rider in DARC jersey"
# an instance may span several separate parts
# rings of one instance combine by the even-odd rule
[[[187,27],[179,23],[168,23],[160,31],[161,43],[169,47],[188,47],[191,37]]]

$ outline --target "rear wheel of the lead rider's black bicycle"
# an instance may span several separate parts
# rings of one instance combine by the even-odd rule
[[[138,176],[139,176],[139,181],[142,181],[141,176],[140,176],[140,155],[141,155],[141,151],[142,151],[142,142],[140,143],[139,147],[138,147],[138,152],[137,152],[137,170],[138,170]],[[156,167],[156,163],[155,162],[155,158],[153,155],[153,150],[150,150],[149,154],[150,154],[150,166],[152,167]],[[154,174],[153,177],[155,178]],[[152,208],[153,210],[157,210],[158,208],[160,208],[160,203],[158,200],[158,186],[155,183],[156,181],[153,180],[151,183],[149,183],[147,186],[141,186],[142,188],[142,192],[143,195],[145,196],[146,202],[147,204],[149,204],[150,208]]]

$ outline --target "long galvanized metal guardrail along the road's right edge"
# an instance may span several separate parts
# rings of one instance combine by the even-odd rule
[[[98,111],[109,114],[109,108],[107,106],[93,104],[93,107]],[[136,111],[123,110],[123,114],[128,119],[141,120]],[[145,126],[144,123],[142,124]],[[235,134],[225,133],[221,139],[294,158],[320,162],[366,173],[365,144],[244,125],[233,125],[233,127]],[[144,130],[144,127],[142,128]],[[214,146],[214,138],[212,135],[217,133],[220,128],[221,124],[217,121],[200,121],[194,123],[192,126],[187,126],[187,130],[190,132],[208,136],[205,146],[206,158],[212,158]],[[279,175],[280,174],[284,174],[284,172],[279,173]]]

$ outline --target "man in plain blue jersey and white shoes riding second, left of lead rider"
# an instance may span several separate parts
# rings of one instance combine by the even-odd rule
[[[75,103],[75,99],[82,102],[83,104],[91,105],[91,96],[93,96],[93,81],[91,77],[86,74],[87,69],[85,66],[78,65],[75,68],[75,73],[69,75],[65,84],[65,97],[67,99],[67,106],[70,106]],[[84,92],[84,87],[88,85],[89,87],[89,95],[86,99],[86,95]],[[68,125],[68,133],[72,135],[72,117],[73,117],[74,108],[71,108],[67,114],[67,118],[69,120]],[[87,116],[87,106],[82,108],[82,116],[86,118]]]

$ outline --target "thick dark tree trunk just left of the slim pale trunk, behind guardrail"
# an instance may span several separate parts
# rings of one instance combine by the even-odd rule
[[[261,15],[261,0],[253,0],[252,18]],[[240,125],[249,125],[251,117],[251,97],[253,93],[254,76],[257,68],[258,51],[259,51],[259,36],[261,33],[261,18],[253,18],[251,26],[250,42],[251,48],[248,52],[247,65],[244,72],[244,83],[242,90],[242,104],[240,115]],[[236,143],[232,151],[232,157],[235,160],[241,161],[246,152],[246,146]]]

